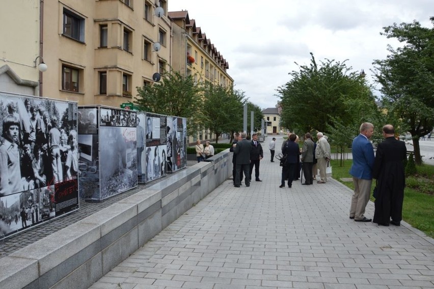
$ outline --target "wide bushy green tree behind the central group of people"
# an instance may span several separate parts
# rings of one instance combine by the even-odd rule
[[[376,108],[364,77],[351,72],[345,61],[325,59],[318,65],[312,53],[311,57],[309,66],[299,65],[299,71],[289,73],[291,80],[277,89],[282,99],[281,125],[295,132],[313,128],[326,132],[337,119],[360,125]]]

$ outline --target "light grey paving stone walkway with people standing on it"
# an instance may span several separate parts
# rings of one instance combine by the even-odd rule
[[[405,222],[350,220],[352,192],[331,178],[280,189],[270,139],[262,182],[225,181],[90,288],[434,287],[433,239]]]

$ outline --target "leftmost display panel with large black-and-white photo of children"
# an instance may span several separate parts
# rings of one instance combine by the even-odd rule
[[[31,225],[39,222],[42,204],[37,192],[46,188],[52,188],[52,200],[56,199],[56,188],[68,190],[73,205],[63,213],[77,209],[78,188],[76,181],[75,185],[69,181],[77,178],[72,165],[77,156],[71,153],[71,142],[77,137],[77,104],[0,93],[0,126],[0,215],[3,222],[7,215],[8,233],[16,229],[8,219],[18,216],[17,206],[13,205],[17,196],[18,206],[30,210],[28,216],[33,216],[23,220],[26,225],[21,229],[29,227],[29,221]],[[57,197],[47,218],[56,216],[56,206],[63,207],[63,196]]]

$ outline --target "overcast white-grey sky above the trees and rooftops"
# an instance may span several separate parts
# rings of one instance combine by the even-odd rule
[[[288,72],[315,60],[346,62],[365,70],[372,82],[372,62],[385,59],[379,35],[394,22],[419,21],[431,28],[433,0],[170,0],[169,11],[187,10],[190,19],[229,62],[235,89],[260,108],[275,107],[276,89]],[[375,94],[379,95],[378,92]]]

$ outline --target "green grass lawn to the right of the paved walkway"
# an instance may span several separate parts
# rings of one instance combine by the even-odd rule
[[[352,181],[343,181],[342,178],[351,178],[349,168],[351,160],[344,160],[339,166],[339,160],[332,160],[333,178],[354,190]],[[404,189],[404,204],[402,219],[413,227],[423,231],[434,238],[434,166],[418,166],[418,175],[406,178],[407,187]],[[374,201],[372,197],[371,201]]]

